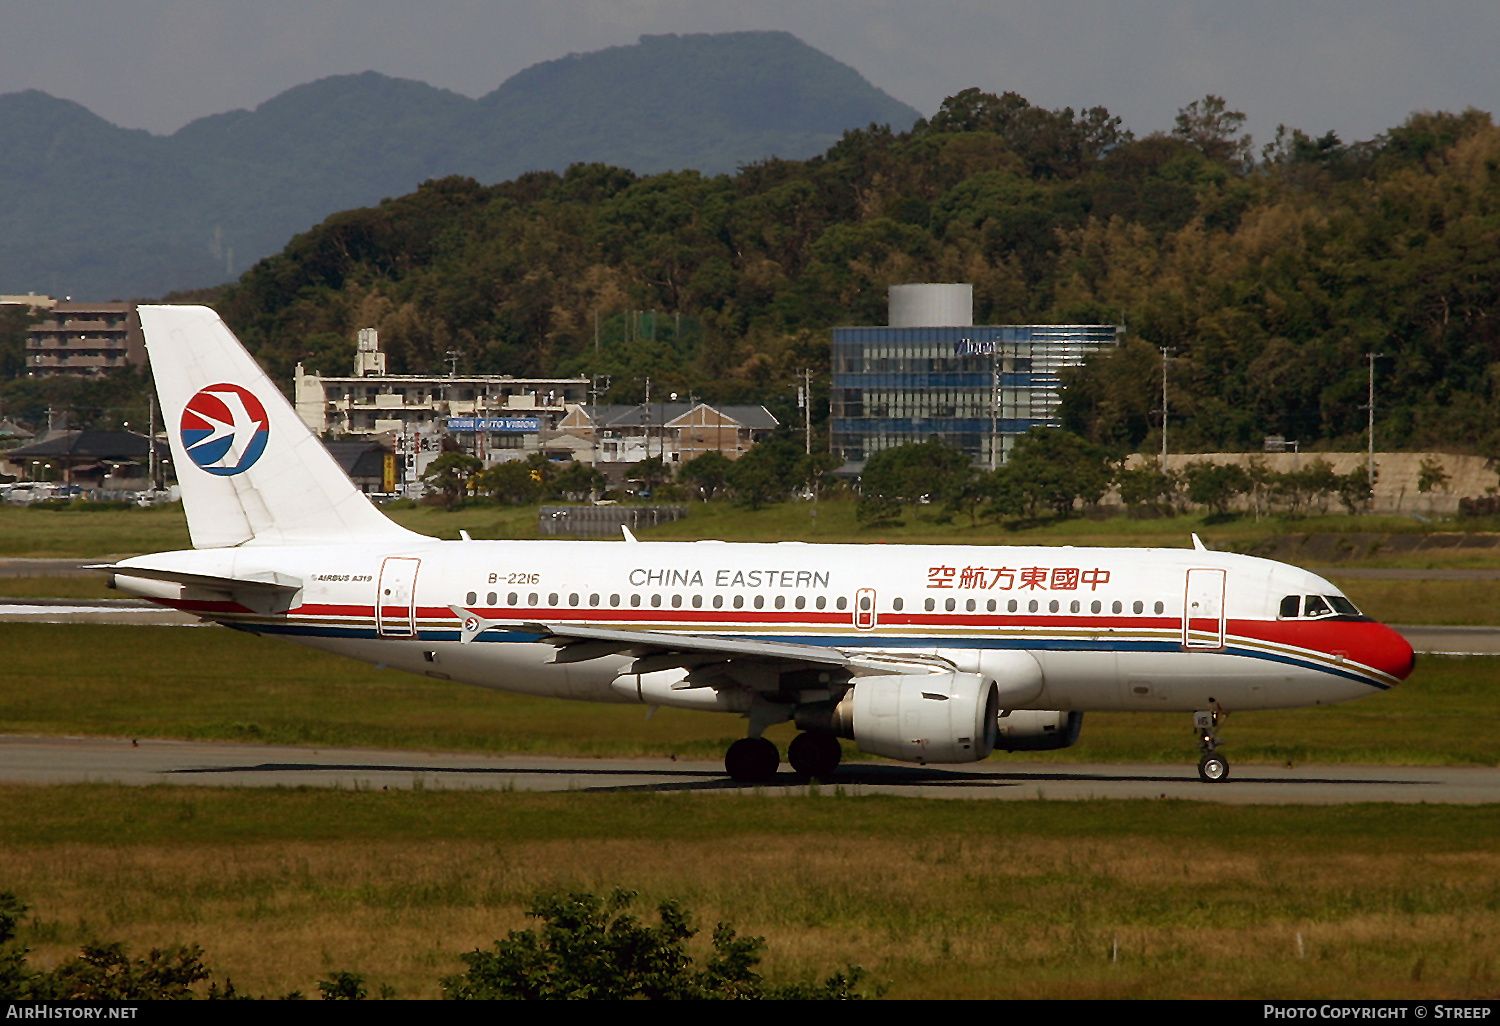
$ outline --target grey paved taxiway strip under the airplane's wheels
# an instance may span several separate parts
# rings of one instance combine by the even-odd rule
[[[1228,748],[1226,753],[1233,754]],[[1254,766],[1233,765],[1221,784],[1197,766],[1036,764],[994,759],[970,766],[854,762],[822,784],[789,770],[770,784],[730,782],[720,762],[558,759],[434,752],[374,752],[124,738],[0,735],[0,782],[122,783],[212,788],[342,788],[345,790],[580,790],[784,795],[902,795],[998,801],[1184,798],[1227,804],[1341,806],[1353,802],[1500,802],[1492,766]]]

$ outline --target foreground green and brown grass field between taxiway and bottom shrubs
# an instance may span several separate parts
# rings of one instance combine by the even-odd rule
[[[892,998],[1492,998],[1490,808],[824,795],[0,788],[39,963],[201,944],[219,978],[432,998],[538,891],[675,897],[772,978]]]

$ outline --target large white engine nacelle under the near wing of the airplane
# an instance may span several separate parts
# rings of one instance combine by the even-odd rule
[[[999,688],[980,674],[864,676],[838,704],[840,734],[902,762],[978,762],[994,750]]]

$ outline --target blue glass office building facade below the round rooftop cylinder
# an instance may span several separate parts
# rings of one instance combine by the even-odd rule
[[[1118,345],[1113,324],[834,328],[832,448],[858,472],[882,448],[938,435],[982,466],[1058,426],[1059,372]]]

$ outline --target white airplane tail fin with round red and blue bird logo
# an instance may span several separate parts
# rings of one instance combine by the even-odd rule
[[[417,538],[354,488],[206,306],[142,306],[195,549]]]

